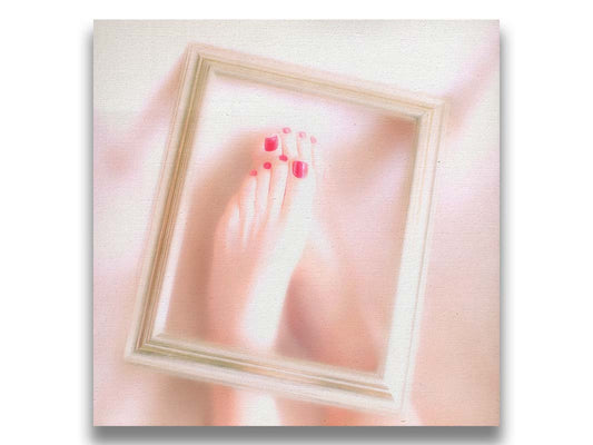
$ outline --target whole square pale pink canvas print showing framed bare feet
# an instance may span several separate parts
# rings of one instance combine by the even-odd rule
[[[498,42],[96,21],[95,425],[497,425]]]

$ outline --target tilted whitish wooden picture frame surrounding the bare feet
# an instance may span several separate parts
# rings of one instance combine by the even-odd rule
[[[196,117],[208,72],[329,97],[380,109],[417,122],[415,160],[387,355],[376,373],[268,357],[155,329],[179,196],[188,165]],[[138,286],[126,359],[204,382],[270,390],[305,400],[393,413],[403,409],[414,373],[416,342],[429,254],[431,214],[446,101],[417,92],[287,66],[253,56],[190,44],[179,83],[167,155]]]

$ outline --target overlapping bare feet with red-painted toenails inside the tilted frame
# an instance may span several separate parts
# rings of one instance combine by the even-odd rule
[[[290,276],[312,225],[315,138],[285,128],[228,204],[214,240],[208,327],[213,342],[269,349]]]

